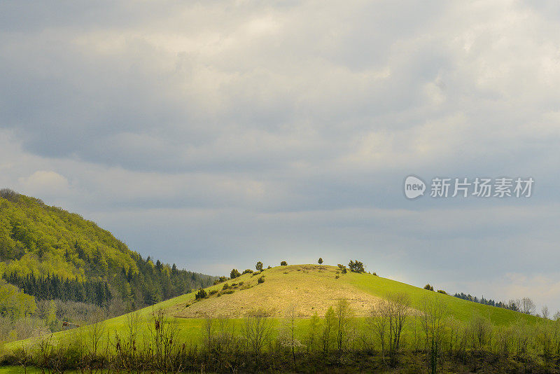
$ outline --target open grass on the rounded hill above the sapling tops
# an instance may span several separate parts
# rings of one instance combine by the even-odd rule
[[[265,282],[258,283],[258,278],[264,275]],[[179,328],[179,337],[186,342],[197,342],[202,337],[204,317],[228,317],[233,324],[241,324],[241,317],[253,309],[262,308],[278,321],[288,305],[294,305],[300,318],[297,321],[298,330],[307,326],[307,317],[317,312],[323,317],[328,307],[335,305],[340,298],[346,298],[355,311],[358,321],[367,315],[372,305],[385,298],[390,292],[407,293],[411,300],[412,313],[419,313],[421,302],[426,296],[440,299],[447,303],[449,314],[461,321],[468,321],[475,315],[480,315],[495,326],[510,324],[518,319],[529,324],[538,321],[533,317],[519,312],[513,312],[499,307],[491,307],[479,303],[472,303],[434,291],[427,291],[391,279],[377,277],[367,273],[347,272],[342,274],[339,269],[328,265],[288,265],[267,269],[260,275],[241,275],[228,282],[229,286],[237,286],[218,296],[223,290],[223,283],[207,288],[207,292],[216,293],[203,300],[195,301],[195,292],[163,303],[139,310],[141,328],[139,333],[149,335],[153,312],[163,310],[167,321]],[[124,334],[127,330],[127,315],[105,321],[106,336],[113,338],[116,333]],[[69,331],[54,334],[55,341],[68,342],[83,339],[87,336],[88,328],[83,326]],[[104,340],[106,340],[106,336]],[[29,341],[26,341],[27,343]],[[21,342],[13,342],[6,347],[15,347]]]

